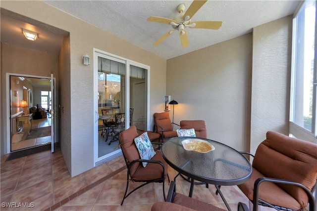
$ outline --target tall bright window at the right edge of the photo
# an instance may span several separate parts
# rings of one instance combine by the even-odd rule
[[[290,133],[298,138],[316,131],[316,1],[304,1],[293,19]]]

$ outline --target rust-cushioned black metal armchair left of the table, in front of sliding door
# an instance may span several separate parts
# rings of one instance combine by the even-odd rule
[[[141,159],[134,140],[137,137],[139,137],[139,134],[135,126],[131,126],[119,134],[119,144],[128,169],[127,185],[121,205],[123,204],[124,199],[126,199],[131,193],[152,182],[162,183],[163,197],[164,200],[166,199],[164,190],[164,181],[166,177],[168,178],[169,182],[167,163],[164,161],[160,151],[156,151],[156,154],[150,160]],[[146,167],[143,166],[143,162],[147,162]],[[130,181],[144,183],[127,193]]]

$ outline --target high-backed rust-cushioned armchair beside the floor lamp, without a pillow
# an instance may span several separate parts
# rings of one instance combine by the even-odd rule
[[[179,125],[170,121],[168,112],[155,113],[154,123],[153,131],[159,133],[162,142],[167,138],[177,137],[177,132],[173,130],[172,125]]]

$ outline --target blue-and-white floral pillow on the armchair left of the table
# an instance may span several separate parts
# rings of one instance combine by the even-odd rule
[[[151,160],[156,154],[150,138],[148,136],[148,132],[145,132],[134,139],[134,143],[137,146],[141,159]],[[142,162],[142,166],[146,167],[147,162]]]

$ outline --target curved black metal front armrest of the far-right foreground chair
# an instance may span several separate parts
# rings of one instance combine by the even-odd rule
[[[258,203],[259,203],[259,186],[262,182],[273,182],[273,183],[280,183],[280,184],[289,184],[289,185],[296,185],[304,189],[308,196],[308,202],[309,202],[309,211],[316,211],[316,202],[315,198],[313,196],[313,193],[304,185],[298,182],[293,182],[285,179],[278,179],[278,178],[269,178],[269,177],[260,177],[254,182],[254,191],[253,191],[253,211],[257,211]],[[262,203],[268,205],[265,201],[261,200]]]

